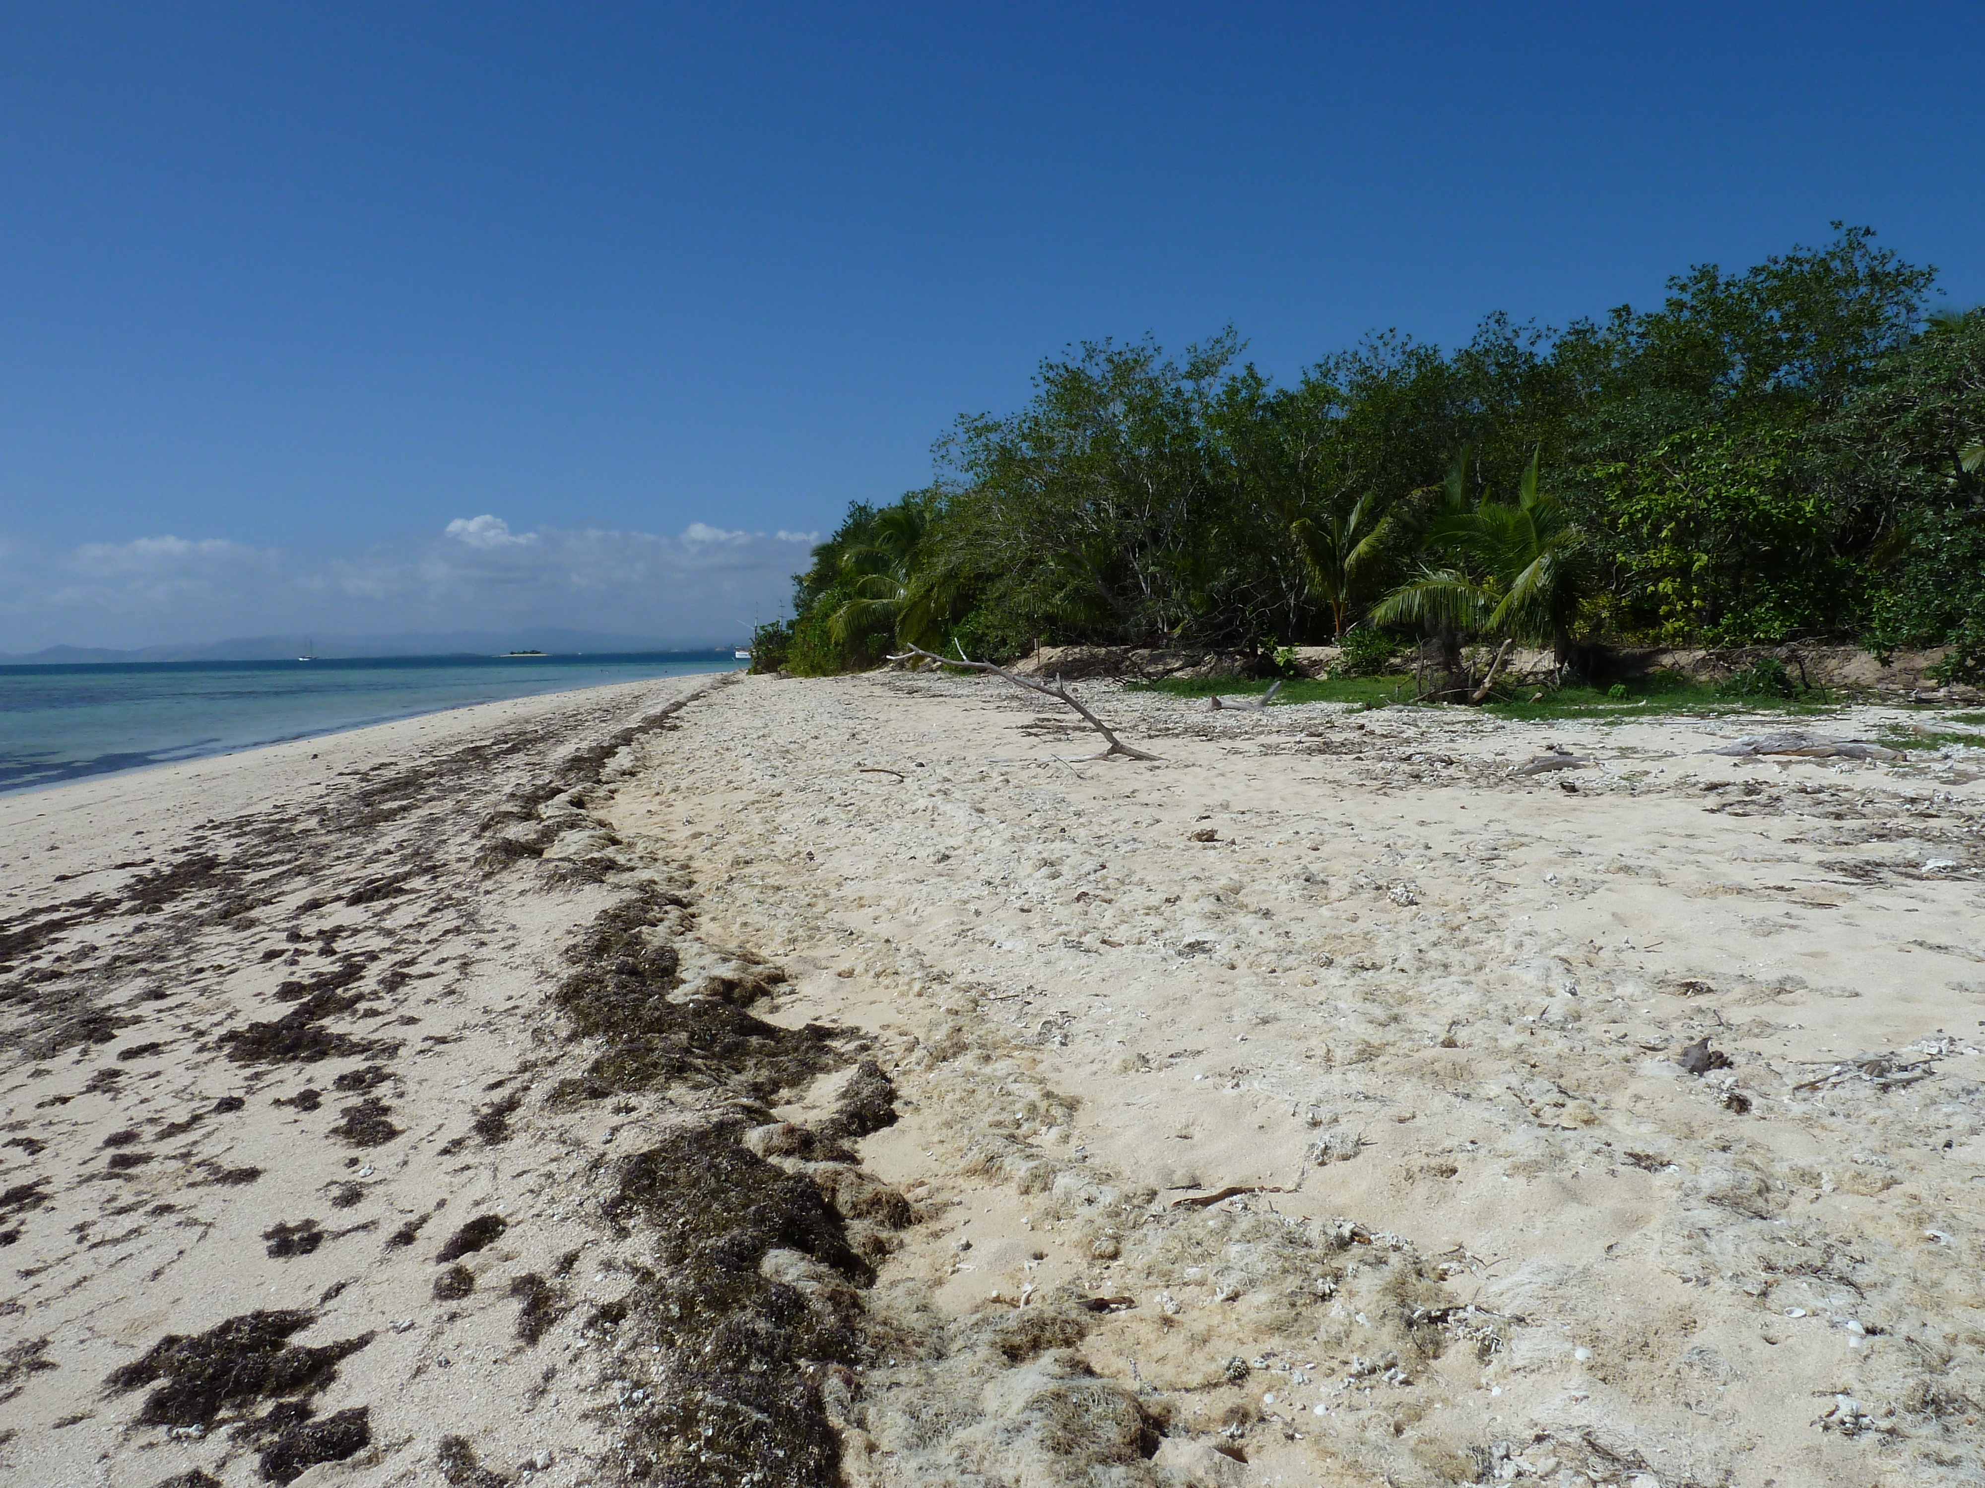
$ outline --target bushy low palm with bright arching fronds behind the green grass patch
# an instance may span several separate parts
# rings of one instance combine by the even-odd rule
[[[1530,454],[1517,502],[1483,500],[1425,524],[1425,546],[1461,561],[1427,565],[1382,599],[1372,617],[1417,621],[1443,633],[1487,631],[1517,641],[1548,641],[1562,667],[1572,653],[1572,625],[1592,577],[1584,534],[1570,510],[1538,490],[1538,454]],[[1457,657],[1459,661],[1459,657]]]

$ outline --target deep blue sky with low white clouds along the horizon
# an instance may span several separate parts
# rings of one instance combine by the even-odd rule
[[[1832,218],[1973,304],[1979,56],[1977,4],[14,4],[0,651],[727,635],[1074,339],[1288,379]]]

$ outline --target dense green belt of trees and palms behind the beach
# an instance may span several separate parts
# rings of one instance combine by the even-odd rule
[[[1255,651],[1852,639],[1985,679],[1985,308],[1836,224],[1655,310],[1397,331],[1278,387],[1233,329],[1082,343],[1014,413],[961,417],[937,478],[858,502],[756,665],[915,643]],[[1272,667],[1264,667],[1272,669]],[[1505,690],[1507,692],[1507,690]]]

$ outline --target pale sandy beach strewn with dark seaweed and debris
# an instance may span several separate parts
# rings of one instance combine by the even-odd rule
[[[1000,688],[0,802],[8,1482],[1985,1480],[1979,752]]]

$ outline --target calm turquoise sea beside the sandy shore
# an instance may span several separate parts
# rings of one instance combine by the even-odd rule
[[[0,667],[0,792],[474,702],[740,665],[728,651],[711,651]]]

